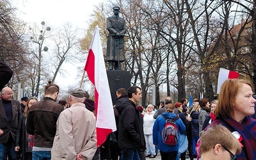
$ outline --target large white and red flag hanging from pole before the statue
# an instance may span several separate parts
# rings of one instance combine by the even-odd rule
[[[108,134],[116,131],[116,122],[98,26],[94,31],[84,70],[95,86],[97,147],[100,147]]]

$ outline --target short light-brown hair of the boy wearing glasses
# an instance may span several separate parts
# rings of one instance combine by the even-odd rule
[[[228,149],[236,149],[241,153],[241,145],[237,138],[223,125],[209,125],[206,131],[200,132],[200,154],[211,150],[216,144],[224,145]]]

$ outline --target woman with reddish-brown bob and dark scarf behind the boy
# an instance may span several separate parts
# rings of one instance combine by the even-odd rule
[[[256,120],[252,97],[252,84],[244,79],[227,79],[221,86],[218,105],[214,110],[216,120],[211,125],[222,124],[240,141],[242,151],[236,159],[255,159]]]

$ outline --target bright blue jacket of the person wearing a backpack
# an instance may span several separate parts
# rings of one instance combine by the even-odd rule
[[[174,118],[175,113],[167,113],[164,112],[162,115],[167,116],[168,118]],[[186,126],[183,124],[182,120],[178,118],[175,121],[177,128],[179,129],[179,134],[180,132],[186,131]],[[179,144],[177,145],[166,145],[163,143],[162,137],[161,137],[161,132],[164,128],[165,124],[165,118],[163,116],[157,116],[156,121],[153,126],[153,143],[154,145],[157,145],[159,150],[162,152],[173,152],[173,151],[178,151],[179,150]]]

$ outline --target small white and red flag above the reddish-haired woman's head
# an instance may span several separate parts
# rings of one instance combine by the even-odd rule
[[[232,70],[227,70],[227,69],[224,69],[224,68],[220,68],[219,77],[218,77],[217,94],[220,93],[220,88],[221,88],[222,84],[227,79],[236,79],[238,77],[239,77],[238,72],[234,72]]]

